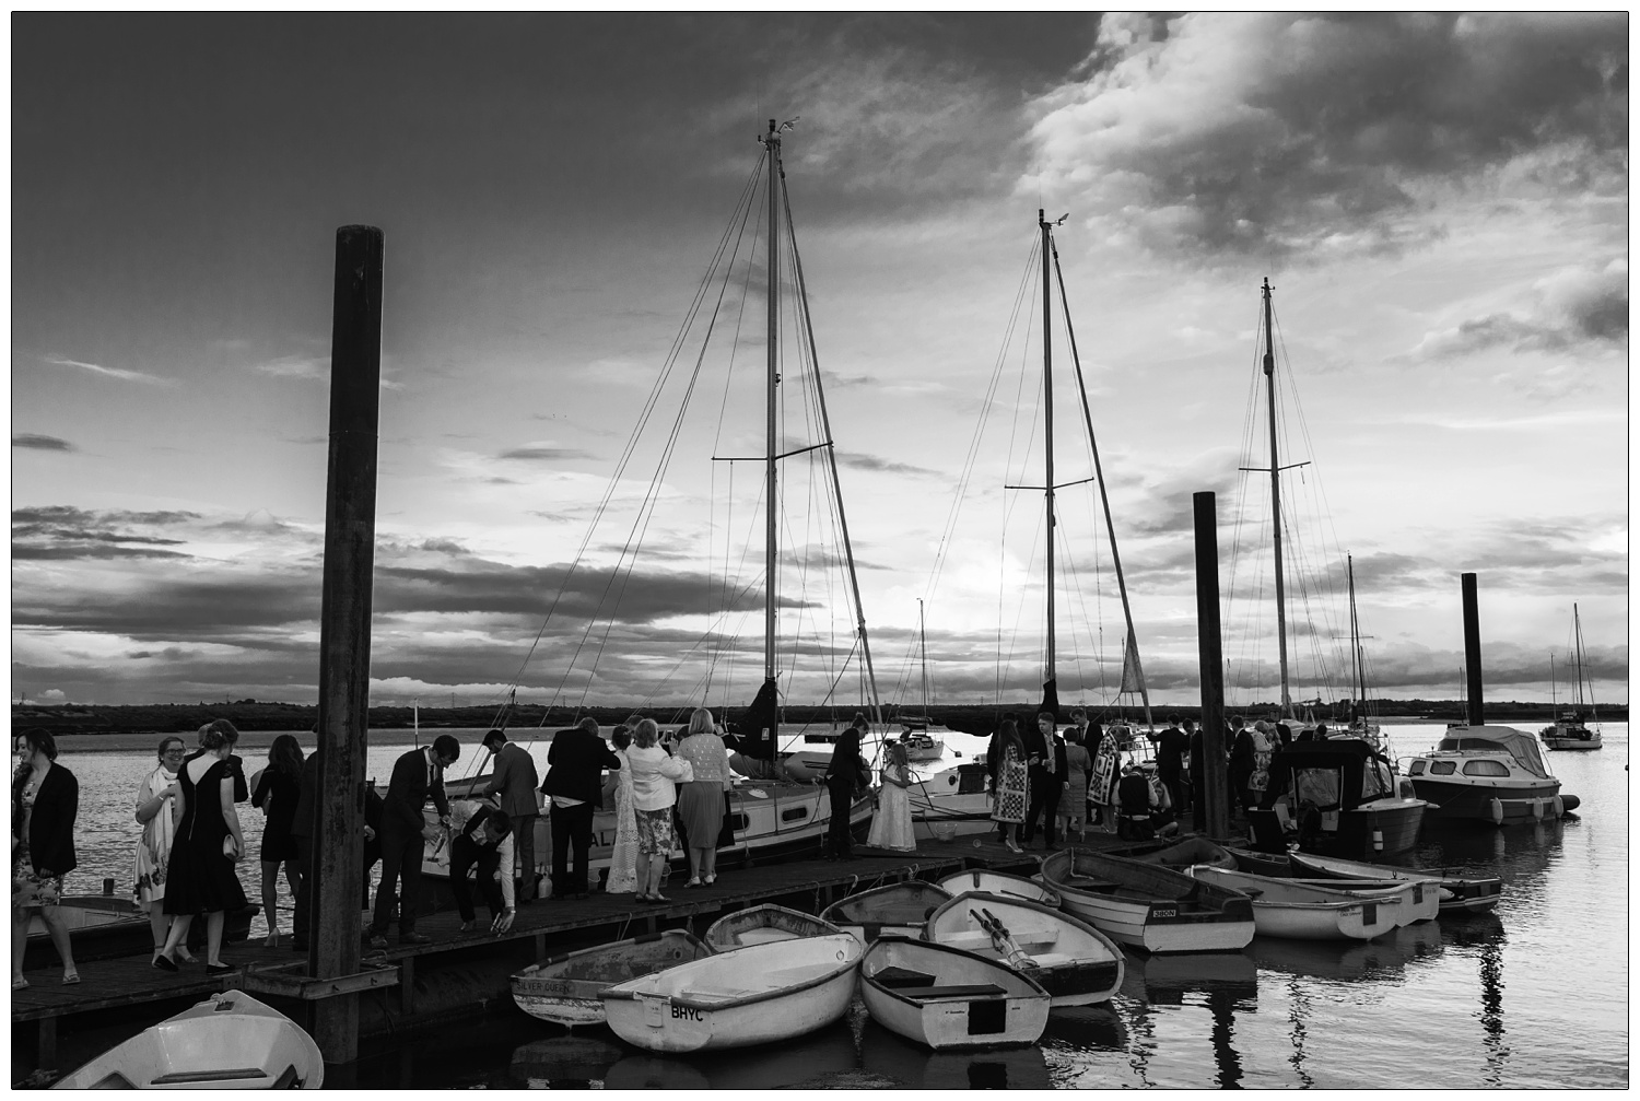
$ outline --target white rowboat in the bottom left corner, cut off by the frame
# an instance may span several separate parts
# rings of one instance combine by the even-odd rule
[[[52,1090],[318,1090],[323,1081],[313,1037],[230,989],[108,1048]]]

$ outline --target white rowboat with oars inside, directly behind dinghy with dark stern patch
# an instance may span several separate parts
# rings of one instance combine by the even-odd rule
[[[1122,948],[1092,925],[1028,899],[959,894],[928,917],[923,940],[1030,975],[1053,1006],[1092,1006],[1122,985]]]

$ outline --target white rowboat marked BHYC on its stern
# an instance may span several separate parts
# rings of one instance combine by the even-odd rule
[[[604,1014],[649,1052],[789,1040],[848,1012],[861,953],[845,932],[751,943],[610,986]]]

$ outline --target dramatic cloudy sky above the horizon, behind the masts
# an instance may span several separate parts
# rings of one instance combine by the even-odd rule
[[[795,116],[884,697],[920,692],[918,607],[936,702],[1041,669],[1040,494],[1007,489],[1043,477],[1041,207],[1158,701],[1199,699],[1199,491],[1230,701],[1276,694],[1241,469],[1266,277],[1289,558],[1327,578],[1289,582],[1294,694],[1348,689],[1348,555],[1374,692],[1458,696],[1474,571],[1487,699],[1548,697],[1576,602],[1596,699],[1627,701],[1627,41],[1624,15],[15,15],[13,699],[317,699],[348,223],[387,241],[372,701],[749,697],[761,474],[710,459],[761,451],[761,413],[713,420],[702,376],[654,477],[682,422],[648,400]],[[761,292],[725,294],[746,382]],[[1122,610],[1055,348],[1058,676],[1099,702]],[[804,486],[782,633],[846,651]],[[858,697],[854,660],[782,661],[795,702]]]

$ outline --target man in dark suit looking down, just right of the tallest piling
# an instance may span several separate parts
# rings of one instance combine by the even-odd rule
[[[376,912],[369,939],[372,948],[387,947],[387,925],[394,919],[394,886],[399,886],[399,943],[431,943],[415,930],[415,911],[421,902],[423,842],[435,840],[438,829],[426,824],[421,807],[428,796],[438,807],[438,820],[449,825],[449,802],[444,799],[444,770],[461,756],[461,743],[448,733],[433,745],[410,750],[394,761],[394,776],[382,799],[382,881],[376,888]]]

